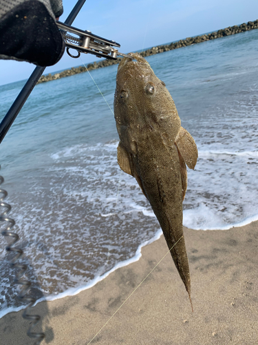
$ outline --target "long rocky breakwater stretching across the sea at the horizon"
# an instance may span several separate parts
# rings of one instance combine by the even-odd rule
[[[238,34],[240,32],[246,32],[250,30],[255,30],[258,28],[258,19],[255,21],[248,21],[248,23],[242,23],[239,26],[228,26],[228,28],[220,29],[210,34],[202,34],[195,37],[187,37],[186,39],[180,39],[176,42],[171,42],[169,44],[162,44],[160,46],[155,46],[151,49],[144,50],[140,52],[142,57],[149,57],[151,55],[159,54],[161,52],[168,52],[169,50],[174,50],[186,46],[191,46],[193,44],[202,43],[205,41],[210,41],[212,39],[218,39],[225,36],[230,36],[232,34]],[[101,60],[101,61],[94,61],[94,63],[89,63],[87,65],[88,70],[96,70],[97,68],[103,68],[111,65],[116,65],[121,61],[122,58],[118,58],[117,60]],[[47,81],[52,81],[56,79],[61,79],[64,77],[69,77],[70,75],[77,75],[79,73],[86,72],[84,66],[72,67],[67,70],[63,70],[59,73],[48,75],[42,75],[39,79],[38,83],[45,83]]]

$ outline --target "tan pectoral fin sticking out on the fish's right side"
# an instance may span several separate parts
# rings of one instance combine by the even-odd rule
[[[178,135],[175,138],[175,144],[180,151],[182,159],[186,162],[186,165],[190,169],[194,169],[198,158],[198,150],[190,133],[180,127]]]

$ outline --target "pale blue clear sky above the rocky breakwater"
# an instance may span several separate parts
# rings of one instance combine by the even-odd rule
[[[76,0],[63,0],[65,21]],[[257,0],[87,0],[72,26],[120,43],[127,53],[258,19]],[[98,61],[82,54],[84,63]],[[43,74],[82,65],[65,54]],[[28,79],[35,66],[0,60],[0,85]]]

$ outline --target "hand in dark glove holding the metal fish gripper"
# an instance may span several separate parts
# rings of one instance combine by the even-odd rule
[[[65,42],[56,26],[62,0],[1,0],[0,59],[52,66],[63,56]]]

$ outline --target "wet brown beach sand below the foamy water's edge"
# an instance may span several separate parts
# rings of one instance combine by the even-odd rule
[[[170,255],[135,290],[167,252],[161,237],[142,248],[138,262],[94,287],[37,304],[41,344],[86,345],[103,328],[90,344],[257,345],[258,221],[230,230],[184,228],[184,234],[193,313]],[[21,313],[0,319],[1,345],[34,343]]]

